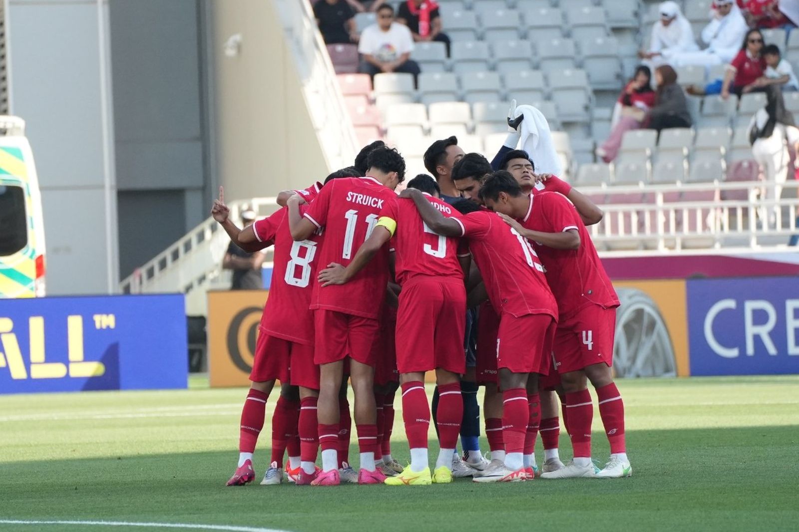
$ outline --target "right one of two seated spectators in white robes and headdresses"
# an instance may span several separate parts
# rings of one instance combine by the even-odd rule
[[[711,66],[729,63],[738,53],[741,40],[748,29],[734,0],[716,0],[713,18],[702,30],[702,42],[707,44],[707,48],[699,52],[674,54],[671,64],[698,65],[710,69]]]

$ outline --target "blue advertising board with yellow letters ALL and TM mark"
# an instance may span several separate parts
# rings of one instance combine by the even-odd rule
[[[0,300],[0,394],[185,388],[184,297]]]

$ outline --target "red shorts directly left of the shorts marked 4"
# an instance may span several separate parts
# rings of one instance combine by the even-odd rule
[[[497,367],[547,375],[557,322],[549,314],[499,316]]]

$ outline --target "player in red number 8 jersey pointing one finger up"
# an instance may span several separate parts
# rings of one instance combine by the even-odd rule
[[[311,298],[309,285],[316,270],[313,259],[320,236],[309,235],[307,240],[294,242],[288,231],[285,208],[240,230],[229,219],[229,208],[225,205],[221,187],[212,215],[231,240],[243,248],[265,248],[272,243],[275,246],[272,287],[260,320],[250,374],[252,384],[241,412],[239,464],[228,486],[241,486],[255,478],[252,452],[264,427],[266,401],[276,379],[280,379],[284,387],[289,382],[300,387],[299,401],[288,399],[290,396],[281,391],[272,419],[272,463],[261,484],[279,484],[283,477],[287,436],[297,431],[298,424],[300,463],[290,463],[292,472],[299,469],[303,459],[311,464],[316,462],[316,416],[308,422],[308,415],[304,415],[303,410],[309,398],[316,402],[319,388],[319,370],[313,363],[313,328],[308,325],[308,304]],[[290,374],[289,367],[292,370]],[[292,454],[289,452],[290,462]],[[293,479],[296,481],[296,477]]]

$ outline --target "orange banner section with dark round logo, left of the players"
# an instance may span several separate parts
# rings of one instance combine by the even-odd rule
[[[266,290],[208,292],[209,382],[248,386]]]

